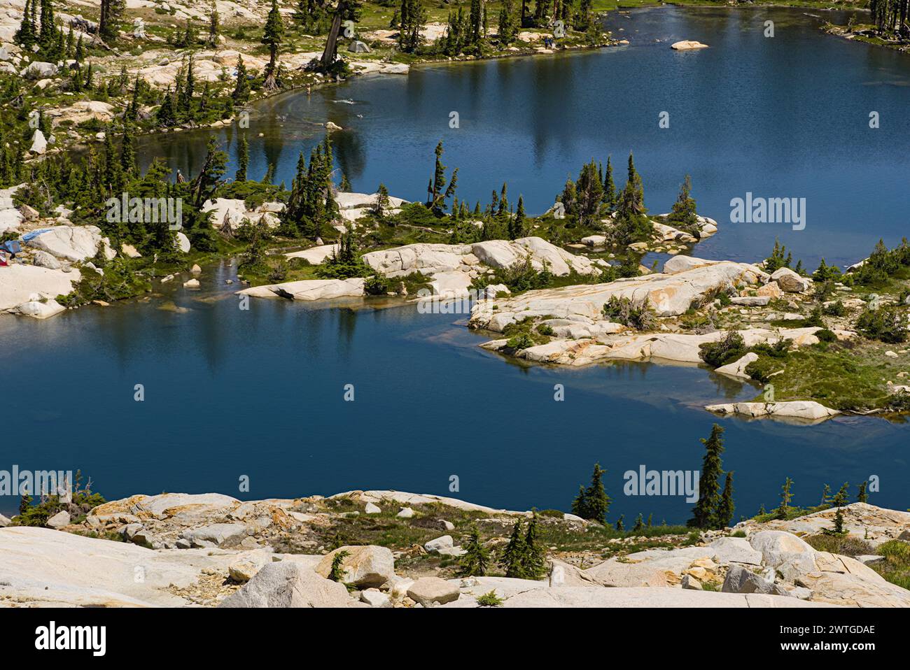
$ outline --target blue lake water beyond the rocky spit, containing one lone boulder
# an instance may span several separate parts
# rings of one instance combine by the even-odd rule
[[[773,38],[763,36],[768,18]],[[424,197],[442,140],[443,162],[460,168],[460,198],[486,203],[508,182],[511,200],[521,194],[540,214],[591,157],[612,155],[622,185],[632,151],[652,212],[669,211],[692,175],[700,211],[723,229],[698,255],[751,262],[780,237],[813,268],[822,256],[849,265],[879,237],[895,245],[907,233],[910,58],[824,35],[821,20],[781,8],[613,13],[607,25],[628,46],[420,66],[282,95],[257,105],[244,131],[250,175],[275,163],[277,181],[289,185],[298,152],[309,155],[321,138],[314,124],[330,120],[346,129],[332,136],[355,189],[372,193],[384,182],[392,195]],[[672,51],[680,39],[711,48]],[[449,127],[451,111],[458,129]],[[658,127],[662,111],[666,129]],[[232,155],[238,132],[218,132]],[[202,161],[208,135],[156,137],[147,158],[167,155],[186,174]],[[804,197],[805,229],[731,224],[730,201],[746,192]]]

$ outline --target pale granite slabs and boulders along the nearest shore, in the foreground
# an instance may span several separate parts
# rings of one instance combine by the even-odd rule
[[[750,520],[704,532],[694,545],[585,559],[583,567],[551,552],[540,580],[452,577],[442,565],[413,563],[412,546],[329,551],[302,539],[378,515],[400,530],[438,527],[446,535],[418,547],[419,554],[457,556],[454,543],[477,519],[508,529],[510,519],[528,514],[398,491],[247,502],[220,494],[134,495],[61,530],[0,528],[0,606],[477,607],[490,592],[505,607],[910,606],[910,592],[862,561],[816,551],[797,535],[829,527],[834,510]],[[849,533],[866,541],[910,539],[908,513],[857,503],[844,515]],[[572,515],[547,523],[581,535],[591,525]],[[433,537],[429,532],[424,536]],[[489,543],[498,551],[501,540]],[[339,555],[344,585],[328,579]]]

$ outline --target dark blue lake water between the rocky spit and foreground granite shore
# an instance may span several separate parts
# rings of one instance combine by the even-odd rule
[[[612,519],[683,521],[680,498],[622,495],[622,473],[698,469],[714,421],[700,405],[751,387],[694,367],[522,367],[479,349],[450,315],[416,308],[238,309],[225,268],[204,291],[171,285],[151,303],[0,319],[0,469],[76,469],[108,498],[217,491],[241,498],[395,488],[511,509],[568,509],[599,461]],[[175,300],[191,311],[157,309]],[[359,304],[359,303],[358,303]],[[134,385],[146,400],[134,400]],[[354,402],[343,400],[354,385]],[[565,400],[553,400],[553,385]],[[805,427],[727,419],[723,462],[739,512],[771,507],[785,476],[796,501],[824,483],[882,477],[903,509],[907,428],[842,418]],[[249,475],[250,491],[238,492]],[[0,498],[9,514],[16,500]]]

